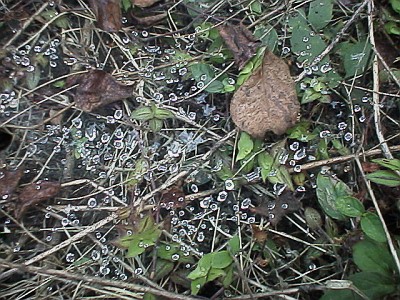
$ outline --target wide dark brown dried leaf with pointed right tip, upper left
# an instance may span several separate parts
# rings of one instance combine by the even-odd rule
[[[118,83],[102,70],[69,77],[67,86],[74,84],[79,84],[74,95],[76,106],[87,112],[132,96],[133,93],[133,86]]]

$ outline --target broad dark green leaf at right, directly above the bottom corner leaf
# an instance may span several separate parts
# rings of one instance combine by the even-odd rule
[[[365,272],[377,272],[391,276],[394,261],[385,244],[364,240],[353,246],[353,259]]]

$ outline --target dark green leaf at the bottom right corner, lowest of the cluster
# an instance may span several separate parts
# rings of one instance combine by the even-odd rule
[[[354,285],[370,299],[383,299],[384,296],[396,291],[393,277],[377,272],[360,272],[349,277]]]

